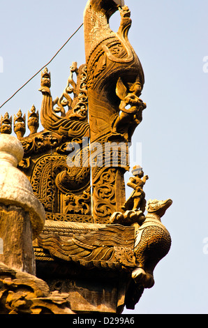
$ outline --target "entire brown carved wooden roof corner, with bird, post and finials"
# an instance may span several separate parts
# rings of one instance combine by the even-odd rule
[[[114,32],[109,20],[117,10],[121,22]],[[154,268],[170,249],[161,217],[172,200],[146,202],[143,189],[149,177],[140,165],[133,167],[127,184],[133,192],[126,200],[128,147],[146,108],[140,98],[144,73],[128,40],[130,28],[131,11],[123,0],[89,0],[84,10],[86,64],[72,63],[63,94],[54,99],[52,75],[45,68],[41,109],[32,105],[27,123],[21,110],[14,117],[1,115],[1,135],[14,132],[22,144],[24,156],[18,157],[17,167],[45,211],[45,225],[33,241],[40,280],[0,262],[0,305],[6,313],[121,313],[124,306],[134,308],[144,288],[154,285]],[[9,211],[15,211],[15,218],[24,211],[5,207],[10,202],[3,197],[0,205],[3,237]],[[21,231],[29,236],[28,229]],[[34,262],[29,267],[34,269]],[[10,297],[1,297],[8,291]]]

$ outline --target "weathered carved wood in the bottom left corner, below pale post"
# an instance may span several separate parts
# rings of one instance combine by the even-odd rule
[[[45,281],[0,262],[0,314],[73,314],[68,294],[50,292]]]

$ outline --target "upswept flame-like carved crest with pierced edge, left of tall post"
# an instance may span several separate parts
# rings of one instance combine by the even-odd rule
[[[77,75],[77,84],[73,80],[73,73]],[[69,137],[82,137],[89,134],[86,77],[86,67],[82,65],[77,69],[74,63],[73,66],[70,66],[70,77],[64,93],[53,101],[50,94],[50,73],[47,68],[43,70],[40,87],[43,94],[40,120],[44,128]],[[69,96],[72,93],[73,99]],[[54,105],[58,106],[54,109]],[[66,106],[68,107],[67,112],[64,109]],[[57,115],[59,112],[61,117]]]

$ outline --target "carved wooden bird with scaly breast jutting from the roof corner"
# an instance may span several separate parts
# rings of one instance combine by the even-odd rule
[[[135,256],[138,267],[133,271],[132,277],[144,288],[154,285],[154,268],[170,250],[170,234],[161,223],[161,217],[171,204],[170,199],[149,200],[147,216],[136,232]]]

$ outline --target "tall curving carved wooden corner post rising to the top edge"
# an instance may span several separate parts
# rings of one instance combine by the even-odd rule
[[[107,223],[125,202],[124,173],[128,170],[128,142],[142,121],[146,107],[139,96],[144,84],[142,66],[128,41],[130,10],[123,1],[87,3],[84,12],[84,37],[87,63],[87,89],[91,143],[126,144],[126,165],[118,156],[117,166],[92,168],[94,220]],[[114,33],[110,16],[119,10],[121,24]],[[126,106],[130,105],[130,109]],[[101,147],[101,156],[103,156]],[[105,153],[105,156],[107,154]],[[108,156],[110,158],[110,154]]]

